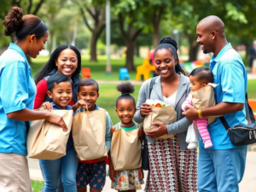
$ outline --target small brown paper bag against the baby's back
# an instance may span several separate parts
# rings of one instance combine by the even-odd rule
[[[213,88],[218,84],[207,84],[199,90],[192,92],[192,103],[195,108],[209,108],[216,105]],[[208,117],[208,125],[212,124],[216,117]]]

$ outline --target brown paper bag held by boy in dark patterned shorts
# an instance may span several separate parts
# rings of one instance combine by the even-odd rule
[[[105,110],[76,113],[72,133],[79,160],[95,160],[107,156]]]

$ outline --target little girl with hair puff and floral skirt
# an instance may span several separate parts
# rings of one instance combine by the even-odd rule
[[[119,84],[117,86],[122,94],[118,97],[116,101],[116,113],[119,115],[119,122],[117,125],[113,125],[111,128],[111,137],[113,137],[113,132],[118,129],[123,129],[124,131],[131,131],[137,129],[139,125],[132,121],[133,115],[136,112],[136,103],[134,98],[130,95],[134,92],[134,86],[131,83]],[[143,141],[143,129],[138,131],[140,140]],[[114,171],[113,164],[111,160],[111,151],[108,154],[109,158],[109,177],[112,180],[112,189],[119,191],[130,191],[135,192],[136,189],[142,189],[143,184],[143,169],[142,167],[134,170],[127,171]]]

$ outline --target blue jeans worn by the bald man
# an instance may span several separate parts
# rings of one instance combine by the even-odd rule
[[[199,192],[238,192],[245,171],[247,147],[206,149],[199,147]]]

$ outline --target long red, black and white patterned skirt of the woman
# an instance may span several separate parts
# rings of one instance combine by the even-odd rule
[[[145,191],[197,191],[197,150],[181,150],[177,136],[148,142],[150,172]]]

